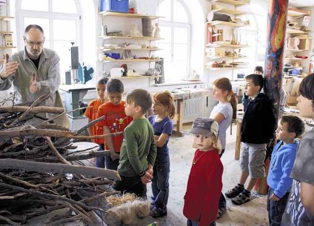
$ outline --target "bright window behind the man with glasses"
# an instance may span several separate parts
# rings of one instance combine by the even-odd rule
[[[80,10],[78,0],[17,0],[17,40],[24,48],[24,30],[29,24],[38,24],[46,37],[44,47],[51,48],[60,57],[61,79],[71,69],[72,44],[80,47]],[[79,48],[78,47],[78,48]]]

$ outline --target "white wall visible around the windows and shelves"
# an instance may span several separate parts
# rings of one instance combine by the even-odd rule
[[[182,3],[185,5],[186,8],[189,9],[189,18],[191,22],[191,70],[195,69],[197,73],[201,75],[203,78],[203,82],[205,83],[206,87],[211,87],[211,82],[219,77],[230,77],[229,74],[225,73],[225,70],[217,70],[217,71],[209,71],[204,69],[204,51],[205,51],[205,44],[207,41],[207,20],[206,16],[210,11],[210,1],[209,0],[181,0]],[[137,0],[137,11],[140,14],[148,14],[148,15],[156,15],[157,10],[157,3],[160,0]],[[15,0],[11,0],[10,2],[10,11],[11,15],[13,16],[15,13],[14,10],[14,3]],[[101,29],[101,20],[102,16],[98,14],[100,10],[100,0],[80,0],[79,3],[82,7],[81,12],[81,36],[82,36],[82,59],[80,62],[84,62],[87,68],[93,68],[93,80],[89,83],[92,85],[96,84],[96,77],[97,77],[97,58],[98,58],[98,50],[97,50],[97,30]],[[222,4],[223,5],[223,4]],[[241,6],[239,10],[243,9],[244,11],[252,12],[260,27],[259,35],[264,36],[261,40],[265,40],[266,36],[266,14],[267,14],[267,1],[263,0],[251,0],[250,5]],[[230,5],[226,5],[226,7],[231,7]],[[306,9],[312,10],[314,8]],[[119,23],[119,21],[117,21]],[[14,23],[13,23],[14,24]],[[14,31],[15,26],[12,26],[12,30]],[[314,30],[314,19],[310,23],[310,29]],[[228,32],[226,32],[228,33]],[[162,36],[162,31],[160,32]],[[14,39],[16,37],[14,36]],[[258,47],[260,46],[260,47]],[[264,50],[261,49],[261,45],[257,44],[256,48],[260,48],[257,51],[259,53],[264,53]],[[314,44],[312,42],[312,48]],[[312,51],[308,51],[307,53],[309,56],[313,55]],[[207,60],[206,60],[207,61]],[[263,66],[263,63],[261,63]],[[307,64],[308,65],[308,64]],[[308,71],[308,66],[305,68],[305,71]],[[195,84],[190,85],[175,85],[170,87],[155,87],[154,79],[149,78],[136,78],[136,79],[124,79],[122,80],[125,85],[125,90],[129,91],[134,88],[144,88],[147,90],[160,90],[160,89],[173,89],[173,88],[193,88]],[[201,86],[197,84],[197,88]],[[203,86],[204,87],[204,86]],[[3,92],[0,92],[0,98],[3,99]],[[86,96],[87,99],[96,98],[96,92],[89,92]]]

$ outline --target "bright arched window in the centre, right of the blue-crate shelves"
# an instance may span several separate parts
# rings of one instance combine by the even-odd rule
[[[166,82],[178,82],[186,78],[189,71],[190,23],[187,10],[180,0],[163,0],[158,4],[162,40],[157,42],[158,55],[164,58]]]

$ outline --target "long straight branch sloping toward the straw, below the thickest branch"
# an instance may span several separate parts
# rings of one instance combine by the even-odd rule
[[[17,186],[13,186],[13,185],[2,183],[2,182],[0,182],[0,187],[6,188],[6,189],[10,189],[10,190],[13,190],[13,191],[26,192],[29,195],[37,195],[37,196],[39,196],[41,198],[51,198],[52,200],[55,200],[56,202],[59,201],[59,202],[63,203],[65,201],[67,203],[76,204],[76,205],[78,205],[78,206],[80,206],[80,207],[82,207],[84,209],[87,209],[87,210],[99,210],[99,211],[105,212],[105,210],[103,210],[102,208],[88,206],[88,205],[85,205],[83,203],[79,203],[77,201],[74,201],[74,200],[68,199],[66,197],[63,197],[63,196],[47,194],[47,193],[40,192],[40,191],[35,191],[35,190],[28,190],[28,189],[25,189],[25,188],[22,188],[22,187],[17,187]]]

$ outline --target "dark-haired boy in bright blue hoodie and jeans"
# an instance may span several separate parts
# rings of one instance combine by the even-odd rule
[[[280,226],[292,185],[289,175],[296,157],[299,141],[295,138],[304,133],[302,119],[293,115],[283,115],[278,121],[277,140],[269,164],[267,183],[267,211],[270,226]]]

